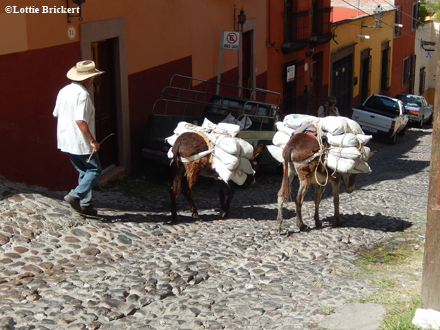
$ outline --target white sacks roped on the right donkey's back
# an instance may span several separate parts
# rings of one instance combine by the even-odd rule
[[[307,126],[316,128],[318,139],[325,137],[328,147],[324,153],[325,164],[338,173],[370,173],[367,161],[370,158],[370,148],[365,144],[372,138],[365,135],[354,120],[342,116],[318,118],[309,115],[287,115],[282,122],[276,124],[277,132],[272,142],[267,146],[272,156],[280,163],[284,162],[283,149],[290,137]],[[301,129],[300,129],[301,128]]]

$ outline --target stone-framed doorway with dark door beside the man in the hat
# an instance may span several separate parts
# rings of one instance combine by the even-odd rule
[[[110,103],[110,107],[108,107],[107,110],[104,109],[103,113],[100,114],[103,120],[102,124],[97,125],[97,139],[98,141],[102,141],[102,138],[106,137],[106,131],[116,133],[106,140],[102,146],[102,148],[104,148],[107,143],[110,143],[108,147],[114,149],[111,150],[110,157],[104,156],[104,153],[107,153],[105,150],[100,150],[99,155],[103,162],[103,168],[111,166],[111,164],[117,165],[115,169],[109,171],[110,173],[106,177],[120,177],[121,173],[129,174],[131,172],[125,18],[120,17],[97,22],[81,23],[79,29],[81,35],[81,58],[90,59],[92,56],[92,58],[98,61],[97,67],[106,71],[106,73],[101,75],[103,86],[99,85],[98,94],[96,94],[99,99],[96,100],[98,106],[96,106],[97,103],[94,100],[95,93],[91,93],[91,97],[93,98],[95,107],[100,109],[104,109],[105,107],[105,105],[101,106],[100,104]],[[92,48],[94,48],[93,51]],[[108,86],[105,86],[106,81],[109,83]],[[101,93],[103,93],[102,99],[101,95],[99,95]],[[105,94],[107,94],[107,96],[104,96]],[[106,112],[109,112],[109,120],[104,124],[104,119],[107,116]],[[104,137],[102,137],[103,135]]]

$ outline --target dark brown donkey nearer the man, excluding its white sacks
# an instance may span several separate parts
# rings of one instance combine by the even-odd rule
[[[260,144],[255,148],[253,157],[250,159],[252,168],[257,168],[257,156],[263,150],[264,145]],[[207,176],[216,179],[217,187],[219,190],[219,198],[221,204],[220,215],[222,218],[226,218],[229,214],[229,205],[234,197],[234,189],[230,182],[225,183],[220,179],[218,173],[211,167],[210,154],[201,157],[200,159],[192,160],[189,162],[182,162],[181,157],[190,158],[194,157],[203,151],[209,150],[209,141],[206,136],[199,133],[183,133],[177,139],[173,145],[172,152],[174,154],[173,162],[171,164],[173,170],[173,181],[170,184],[170,197],[171,197],[171,215],[173,220],[177,220],[176,211],[176,197],[180,192],[182,186],[182,194],[185,196],[186,201],[189,204],[192,212],[192,217],[198,219],[199,214],[197,208],[191,197],[191,190],[196,183],[198,177]],[[184,173],[186,171],[186,180],[184,179]],[[247,175],[246,183],[251,183],[254,180],[253,175]],[[225,192],[227,192],[228,198],[225,202]]]

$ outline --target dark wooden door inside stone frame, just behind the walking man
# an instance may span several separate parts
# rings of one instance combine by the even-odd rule
[[[116,133],[116,88],[115,59],[113,39],[92,43],[92,59],[104,74],[95,78],[94,104],[96,120],[96,139],[101,142],[111,133]],[[117,136],[109,137],[99,149],[103,169],[118,166]]]

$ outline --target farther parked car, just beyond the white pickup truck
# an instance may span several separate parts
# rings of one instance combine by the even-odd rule
[[[423,124],[432,124],[432,117],[434,109],[432,104],[428,104],[428,101],[423,96],[414,94],[397,94],[396,99],[399,99],[405,105],[405,108],[409,111],[409,121],[416,123],[417,127],[422,128]]]

